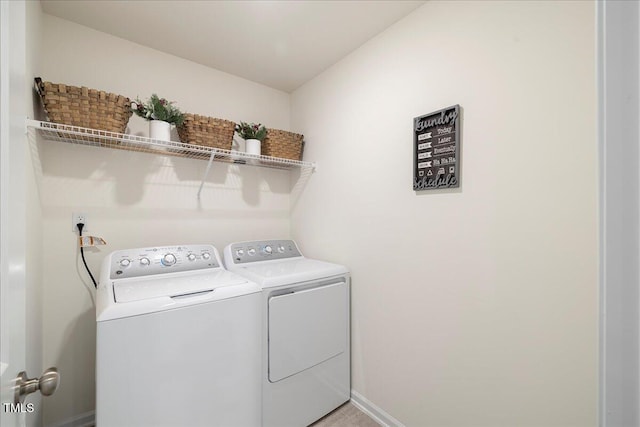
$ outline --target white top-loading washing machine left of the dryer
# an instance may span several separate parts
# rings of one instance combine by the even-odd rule
[[[121,250],[96,299],[97,427],[261,424],[261,288],[211,245]]]

